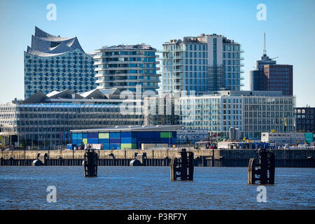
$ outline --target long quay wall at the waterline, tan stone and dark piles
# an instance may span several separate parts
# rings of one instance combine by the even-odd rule
[[[135,156],[142,156],[144,166],[169,166],[170,160],[179,157],[179,150],[113,150],[97,151],[100,166],[129,166]],[[144,154],[145,153],[145,154]],[[197,167],[247,167],[256,151],[249,149],[193,150]],[[138,154],[138,155],[135,155]],[[315,167],[314,150],[274,150],[276,167]],[[83,162],[84,151],[1,151],[1,166],[30,166],[42,160],[48,166],[78,166]]]

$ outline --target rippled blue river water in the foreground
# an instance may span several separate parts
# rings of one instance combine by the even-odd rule
[[[315,169],[276,168],[267,202],[246,167],[195,167],[194,181],[169,181],[169,167],[0,167],[0,209],[315,209]],[[48,186],[57,202],[48,203]]]

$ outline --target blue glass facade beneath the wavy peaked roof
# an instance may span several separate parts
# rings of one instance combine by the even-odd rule
[[[25,99],[41,90],[85,92],[96,87],[93,58],[80,50],[41,57],[25,52]]]

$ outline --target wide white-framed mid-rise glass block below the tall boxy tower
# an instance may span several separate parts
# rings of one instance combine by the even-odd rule
[[[179,124],[207,128],[208,133],[229,138],[230,127],[243,139],[258,139],[261,132],[294,132],[295,97],[279,91],[218,91],[181,97]],[[194,102],[195,110],[187,106]]]

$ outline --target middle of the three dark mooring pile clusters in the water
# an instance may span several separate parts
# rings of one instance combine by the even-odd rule
[[[173,158],[171,161],[171,181],[193,181],[194,177],[194,153],[181,150],[181,158]]]

